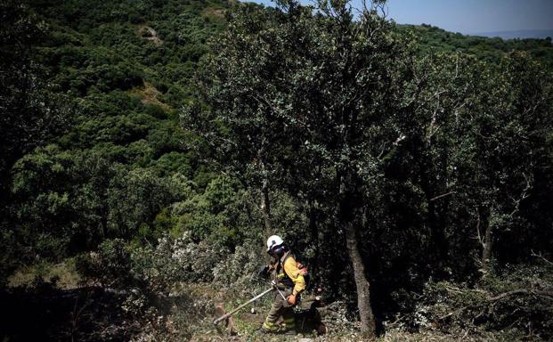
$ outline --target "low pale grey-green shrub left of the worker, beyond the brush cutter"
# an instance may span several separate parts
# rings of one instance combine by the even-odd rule
[[[164,235],[155,245],[145,246],[105,240],[97,251],[78,257],[77,271],[85,282],[168,296],[180,282],[212,281],[216,265],[229,255],[205,241],[194,243],[190,236],[174,239]]]

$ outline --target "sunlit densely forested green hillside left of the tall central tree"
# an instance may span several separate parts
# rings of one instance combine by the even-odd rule
[[[63,109],[55,135],[8,147],[27,138],[17,135],[47,134],[53,124],[22,123],[3,144],[3,180],[11,180],[3,185],[20,225],[13,233],[21,234],[12,238],[28,248],[25,256],[60,260],[107,238],[153,239],[155,217],[183,196],[175,187],[190,181],[205,188],[210,176],[183,147],[178,111],[190,100],[195,66],[207,38],[223,27],[226,6],[45,1],[6,12],[28,19],[4,35],[17,39],[5,48],[20,73],[10,95],[28,81]],[[40,107],[33,95],[28,106]],[[38,117],[51,109],[35,110]]]

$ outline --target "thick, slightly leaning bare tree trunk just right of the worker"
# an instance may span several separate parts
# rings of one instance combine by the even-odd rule
[[[359,245],[357,244],[357,232],[355,230],[355,219],[357,209],[361,205],[361,196],[356,196],[353,175],[346,179],[340,177],[340,206],[339,224],[346,232],[346,250],[354,268],[355,288],[357,289],[357,307],[361,318],[361,331],[367,337],[373,338],[376,335],[376,322],[370,307],[370,283],[366,277],[365,264],[363,263]]]

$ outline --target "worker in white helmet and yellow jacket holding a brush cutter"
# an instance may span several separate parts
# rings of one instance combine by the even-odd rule
[[[297,267],[296,258],[281,237],[272,235],[267,240],[267,253],[272,256],[272,264],[264,267],[264,273],[269,273],[276,289],[273,291],[271,311],[261,327],[261,332],[295,333],[293,307],[297,305],[299,295],[305,289],[304,276]],[[280,316],[283,329],[277,325]]]

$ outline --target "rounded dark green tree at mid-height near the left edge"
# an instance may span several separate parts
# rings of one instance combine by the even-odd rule
[[[83,177],[93,180],[109,170],[85,169],[94,157],[76,157],[48,145],[20,159],[12,169],[12,193],[18,199],[14,209],[22,228],[16,234],[20,243],[36,244],[27,256],[38,253],[55,260],[68,252],[69,242],[79,248],[98,234],[97,227],[88,224],[97,222],[94,214],[102,210],[98,203],[102,189],[93,184],[74,185]]]

